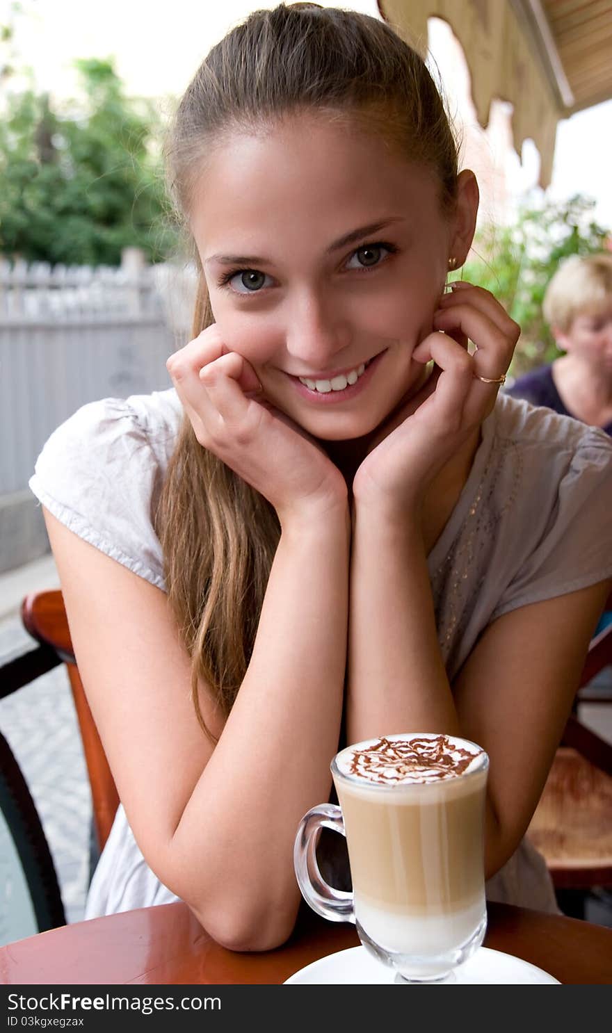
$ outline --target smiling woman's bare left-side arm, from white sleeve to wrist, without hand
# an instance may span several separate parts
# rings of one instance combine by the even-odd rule
[[[79,669],[145,858],[225,945],[265,949],[293,928],[293,843],[329,797],[346,661],[349,519],[283,528],[251,661],[223,722],[165,595],[45,511]]]

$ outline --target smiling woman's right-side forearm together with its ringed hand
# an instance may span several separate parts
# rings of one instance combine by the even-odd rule
[[[460,733],[437,644],[424,534],[448,520],[495,404],[498,384],[479,377],[508,368],[519,328],[488,291],[454,286],[454,295],[438,301],[436,330],[412,351],[414,362],[433,359],[431,375],[391,414],[353,482],[353,742],[393,730]],[[468,334],[485,342],[473,358]]]

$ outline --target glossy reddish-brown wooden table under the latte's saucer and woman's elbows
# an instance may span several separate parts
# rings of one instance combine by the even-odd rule
[[[612,982],[612,930],[507,904],[489,904],[485,945],[560,982]],[[0,947],[0,983],[282,983],[326,954],[359,944],[354,926],[304,909],[290,940],[265,953],[220,947],[184,904],[76,922]]]

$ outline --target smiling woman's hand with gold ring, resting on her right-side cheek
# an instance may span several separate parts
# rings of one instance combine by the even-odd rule
[[[418,363],[433,359],[424,387],[380,428],[353,483],[357,503],[402,513],[419,504],[428,484],[493,409],[520,327],[482,287],[465,281],[440,296],[434,333],[415,348]],[[469,355],[467,341],[476,345]]]

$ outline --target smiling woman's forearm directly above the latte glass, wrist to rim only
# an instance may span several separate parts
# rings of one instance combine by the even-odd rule
[[[354,504],[346,733],[461,734],[437,641],[420,520]]]

